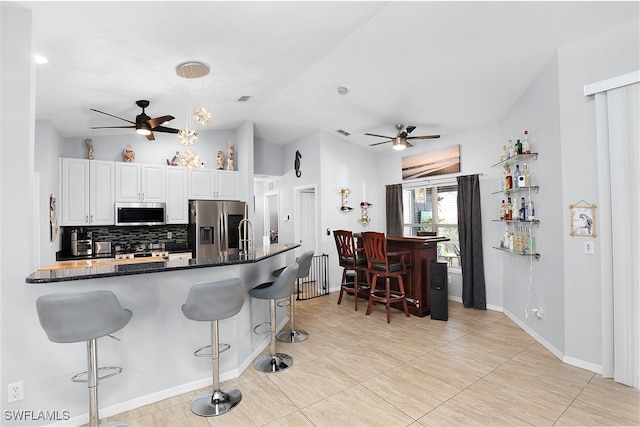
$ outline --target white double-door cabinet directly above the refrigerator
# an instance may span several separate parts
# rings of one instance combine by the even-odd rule
[[[189,198],[193,200],[239,200],[237,171],[193,169],[189,171]]]

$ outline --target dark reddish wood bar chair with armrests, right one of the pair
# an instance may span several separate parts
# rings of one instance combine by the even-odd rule
[[[402,275],[410,268],[409,252],[387,252],[387,239],[384,233],[367,231],[362,233],[364,250],[367,255],[368,273],[371,275],[371,291],[367,315],[371,313],[374,302],[380,302],[387,307],[387,323],[391,322],[390,306],[392,303],[402,302],[404,312],[409,317],[409,308],[404,291]],[[378,278],[385,279],[384,290],[376,290]],[[398,280],[398,290],[391,289],[390,279]]]

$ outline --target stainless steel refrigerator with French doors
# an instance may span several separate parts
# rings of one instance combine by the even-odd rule
[[[238,226],[247,217],[245,202],[218,200],[189,201],[189,247],[196,259],[238,254],[241,237]]]

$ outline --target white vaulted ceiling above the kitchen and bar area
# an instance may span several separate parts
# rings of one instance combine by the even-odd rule
[[[213,121],[196,130],[250,120],[257,137],[285,144],[342,129],[365,147],[381,141],[365,132],[395,135],[395,123],[446,135],[501,118],[559,47],[638,19],[640,3],[18,4],[33,10],[35,50],[49,59],[37,66],[36,117],[63,137],[133,133],[90,130],[126,123],[89,109],[135,120],[147,99],[149,116],[176,117],[171,127],[206,105]],[[178,77],[188,60],[211,73]]]

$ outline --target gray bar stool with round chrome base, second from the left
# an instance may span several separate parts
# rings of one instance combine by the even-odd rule
[[[211,347],[213,359],[213,389],[200,393],[191,401],[191,411],[203,417],[222,415],[238,405],[242,393],[235,387],[220,387],[220,335],[218,321],[238,314],[244,304],[244,288],[237,278],[217,282],[197,283],[189,290],[187,302],[182,305],[185,317],[211,323],[211,345],[194,352],[196,356],[209,356],[201,351]],[[226,345],[224,350],[228,350]]]

